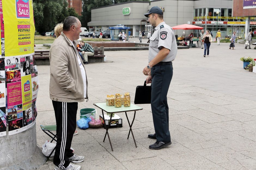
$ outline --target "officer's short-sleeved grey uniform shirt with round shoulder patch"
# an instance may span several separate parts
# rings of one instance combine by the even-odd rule
[[[170,53],[161,62],[173,61],[178,50],[176,38],[173,29],[165,22],[157,25],[150,37],[148,62],[156,57],[162,47],[169,49]]]

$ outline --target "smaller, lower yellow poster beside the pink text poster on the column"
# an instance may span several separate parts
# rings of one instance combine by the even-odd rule
[[[21,77],[21,86],[22,86],[22,105],[23,110],[26,110],[32,105],[32,84],[31,84],[31,75],[26,75]]]

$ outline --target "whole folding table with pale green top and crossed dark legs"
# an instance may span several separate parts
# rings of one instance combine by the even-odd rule
[[[111,149],[113,151],[113,147],[112,147],[112,143],[111,143],[111,140],[110,140],[110,137],[109,137],[109,134],[108,134],[108,129],[111,125],[111,119],[112,119],[112,114],[113,113],[122,113],[122,112],[125,112],[125,115],[126,115],[126,118],[127,118],[127,121],[128,121],[128,124],[130,126],[130,130],[129,130],[129,134],[128,134],[128,137],[127,139],[129,139],[129,136],[130,136],[130,132],[132,133],[132,137],[133,137],[133,140],[134,140],[134,143],[135,143],[135,146],[137,147],[137,144],[136,144],[136,141],[135,141],[135,138],[134,138],[134,135],[133,135],[133,132],[132,132],[132,124],[133,124],[133,121],[135,119],[135,114],[136,114],[136,111],[137,110],[142,110],[141,107],[139,106],[136,106],[135,104],[131,104],[130,107],[124,107],[124,105],[122,105],[122,107],[115,107],[115,106],[107,106],[106,105],[106,102],[102,102],[102,103],[94,103],[93,105],[97,106],[98,108],[100,108],[102,110],[102,116],[103,116],[103,119],[104,119],[104,126],[106,127],[106,133],[105,133],[105,137],[104,137],[104,140],[103,142],[105,142],[105,139],[106,139],[106,135],[108,135],[108,140],[109,140],[109,143],[110,143],[110,146],[111,146]],[[110,116],[110,123],[108,124],[108,126],[106,126],[106,121],[105,121],[105,118],[104,118],[104,113],[103,111],[105,111],[106,113],[110,113],[111,116]],[[132,123],[130,124],[129,122],[129,119],[128,119],[128,116],[127,116],[127,112],[129,111],[134,111],[134,116],[133,116],[133,120],[132,120]]]

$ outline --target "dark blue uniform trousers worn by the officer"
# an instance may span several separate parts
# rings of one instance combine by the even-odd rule
[[[171,140],[167,92],[172,80],[172,75],[172,65],[159,65],[151,69],[151,110],[158,142],[168,142]]]

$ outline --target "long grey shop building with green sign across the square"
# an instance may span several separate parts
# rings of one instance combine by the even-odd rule
[[[241,1],[241,0],[236,0]],[[246,0],[243,0],[246,1]],[[152,30],[147,18],[143,15],[153,6],[163,10],[164,21],[172,26],[181,24],[194,24],[210,30],[216,35],[218,29],[221,36],[232,35],[233,31],[237,36],[245,36],[245,23],[248,17],[234,17],[232,0],[154,0],[132,1],[121,4],[109,5],[92,9],[92,20],[88,23],[89,31],[109,30],[114,25],[124,24],[130,27],[132,36],[139,36],[139,31],[147,33]],[[125,12],[129,9],[129,12]],[[218,12],[217,12],[218,11]],[[218,13],[218,14],[217,14]],[[256,27],[256,16],[249,19],[250,30]],[[175,34],[181,35],[184,30],[175,30]],[[199,36],[198,30],[187,30],[186,34],[194,33]]]

